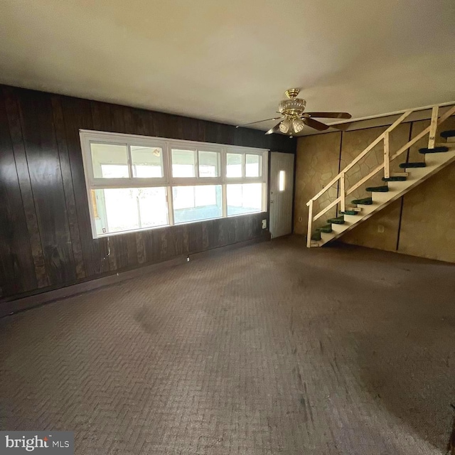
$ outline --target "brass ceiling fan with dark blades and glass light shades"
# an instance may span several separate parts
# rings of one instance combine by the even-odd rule
[[[276,124],[273,128],[270,128],[269,131],[265,134],[272,134],[281,132],[283,134],[289,134],[289,137],[293,137],[294,134],[298,134],[304,129],[304,126],[308,126],[318,131],[323,131],[330,127],[336,129],[346,129],[348,124],[340,125],[331,125],[330,127],[325,123],[315,120],[316,118],[323,119],[350,119],[352,116],[348,112],[304,112],[306,107],[306,101],[301,98],[297,98],[299,95],[300,89],[290,88],[286,90],[285,95],[287,100],[282,100],[279,103],[278,113],[282,114],[282,117],[273,117],[272,119],[259,120],[258,122],[246,123],[243,125],[238,125],[239,127],[246,127],[247,125],[252,125],[255,123],[267,122],[269,120],[279,120],[279,123]]]

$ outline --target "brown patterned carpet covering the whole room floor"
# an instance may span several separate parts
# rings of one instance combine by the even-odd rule
[[[0,428],[76,454],[444,454],[455,266],[296,237],[0,320]]]

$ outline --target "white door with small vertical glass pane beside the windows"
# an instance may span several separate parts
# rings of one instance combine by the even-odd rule
[[[272,238],[292,232],[294,155],[272,151],[270,158],[270,233]]]

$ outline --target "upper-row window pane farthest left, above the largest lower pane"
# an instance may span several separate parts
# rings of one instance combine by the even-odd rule
[[[95,178],[129,178],[126,145],[90,144]]]

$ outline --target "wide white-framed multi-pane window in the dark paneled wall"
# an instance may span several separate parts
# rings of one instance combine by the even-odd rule
[[[87,130],[80,139],[94,238],[266,210],[268,151]]]

